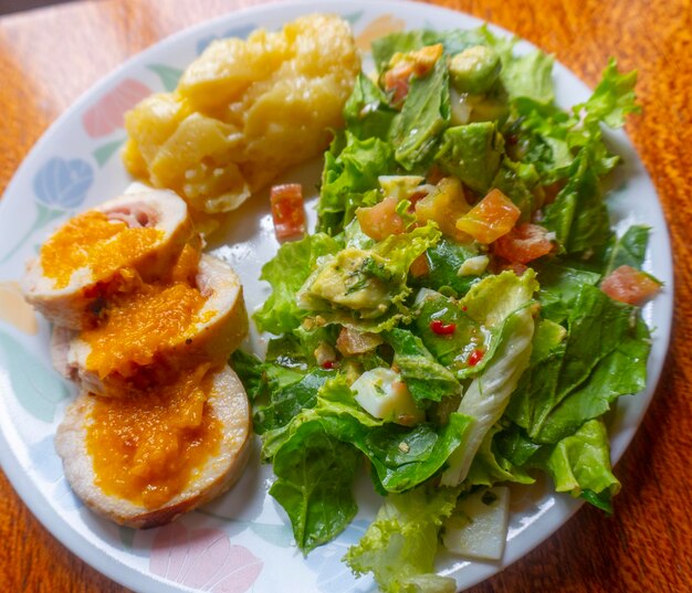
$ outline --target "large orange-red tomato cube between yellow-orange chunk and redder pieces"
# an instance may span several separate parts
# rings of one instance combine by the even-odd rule
[[[493,189],[457,221],[457,229],[487,245],[507,234],[520,215],[521,211],[512,200]]]

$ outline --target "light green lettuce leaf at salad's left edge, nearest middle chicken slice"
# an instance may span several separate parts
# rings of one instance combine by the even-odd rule
[[[306,313],[298,307],[295,294],[312,273],[317,258],[338,250],[339,243],[324,233],[284,243],[279,248],[260,274],[260,279],[272,285],[272,294],[253,315],[260,331],[279,335],[301,325]]]

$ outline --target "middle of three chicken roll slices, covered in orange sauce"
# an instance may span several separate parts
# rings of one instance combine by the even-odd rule
[[[96,327],[54,339],[56,368],[92,393],[117,398],[202,362],[226,363],[248,332],[242,286],[224,262],[198,257],[186,247],[170,280],[117,296]]]

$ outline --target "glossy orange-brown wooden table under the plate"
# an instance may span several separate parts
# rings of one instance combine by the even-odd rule
[[[102,0],[0,19],[0,190],[45,128],[125,59],[260,0]],[[616,515],[583,508],[490,592],[692,591],[692,1],[434,0],[554,53],[590,85],[608,56],[638,68],[628,133],[663,203],[677,260],[673,342],[653,403],[617,466]],[[690,367],[690,370],[688,370]],[[125,591],[57,543],[0,474],[0,591]]]

